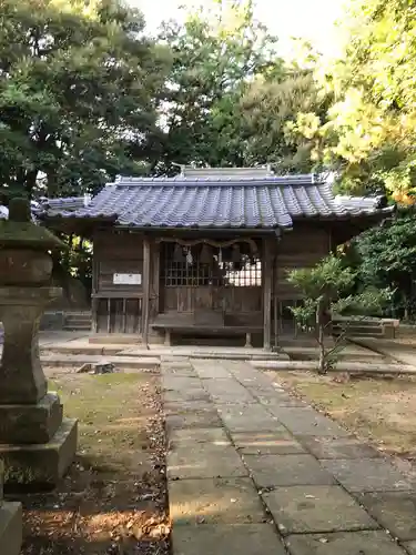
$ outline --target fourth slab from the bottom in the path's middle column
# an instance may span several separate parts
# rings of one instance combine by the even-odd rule
[[[288,455],[306,453],[302,445],[284,428],[275,432],[233,433],[235,447],[243,455]]]

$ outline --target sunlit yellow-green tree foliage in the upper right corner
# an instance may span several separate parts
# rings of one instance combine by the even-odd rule
[[[327,121],[310,113],[297,125],[345,189],[386,188],[405,203],[416,184],[415,16],[414,0],[351,0],[347,47],[323,79]]]

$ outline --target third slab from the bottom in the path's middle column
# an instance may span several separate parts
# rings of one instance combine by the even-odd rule
[[[244,455],[258,487],[332,485],[332,474],[312,455]]]

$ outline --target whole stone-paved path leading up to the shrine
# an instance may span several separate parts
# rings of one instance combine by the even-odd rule
[[[248,363],[162,380],[173,555],[416,555],[415,485],[371,446]]]

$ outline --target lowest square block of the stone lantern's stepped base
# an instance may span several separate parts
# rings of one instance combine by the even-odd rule
[[[69,468],[77,452],[78,422],[64,418],[52,440],[43,444],[0,445],[4,490],[51,490]]]

